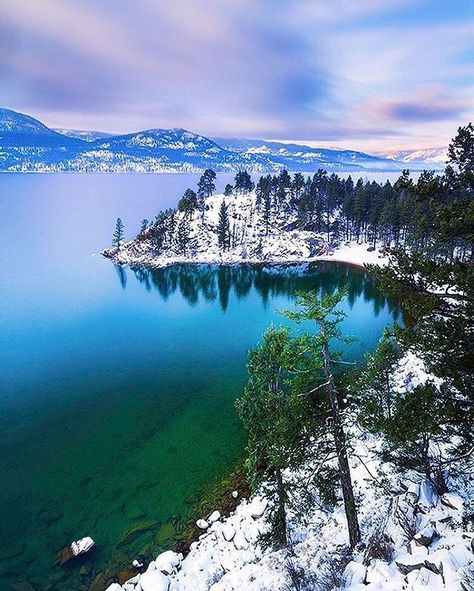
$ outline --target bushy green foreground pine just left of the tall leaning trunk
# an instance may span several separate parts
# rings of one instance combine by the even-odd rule
[[[263,486],[270,500],[272,529],[264,545],[287,546],[287,505],[291,483],[285,468],[303,457],[304,399],[292,388],[292,341],[287,328],[269,328],[262,344],[248,356],[249,380],[236,402],[248,432],[246,466],[252,488]]]

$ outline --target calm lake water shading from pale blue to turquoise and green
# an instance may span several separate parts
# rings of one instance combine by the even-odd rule
[[[219,178],[220,185],[228,181]],[[177,202],[189,175],[0,177],[0,576],[87,588],[156,553],[186,499],[238,459],[233,401],[246,353],[296,289],[349,285],[346,352],[372,349],[397,309],[361,270],[177,266],[131,271],[94,256],[121,216]],[[131,531],[134,530],[134,531]],[[55,553],[90,535],[80,567]]]

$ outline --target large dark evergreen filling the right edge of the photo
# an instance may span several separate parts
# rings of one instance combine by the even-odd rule
[[[436,429],[431,426],[431,431],[436,430],[438,435],[449,431],[451,437],[456,434],[453,445],[445,448],[448,458],[444,461],[469,449],[474,420],[474,200],[467,197],[470,171],[474,170],[474,157],[469,163],[467,155],[474,154],[469,149],[469,141],[474,146],[474,129],[467,126],[458,136],[454,143],[459,140],[462,151],[450,149],[454,167],[446,170],[444,189],[429,177],[423,179],[420,193],[408,185],[416,201],[415,211],[430,204],[429,217],[422,218],[422,223],[428,224],[428,239],[415,242],[409,249],[391,249],[387,267],[370,267],[385,293],[399,297],[416,321],[400,330],[403,345],[412,347],[430,372],[443,380],[442,387],[432,384],[419,394],[433,408]],[[458,153],[462,154],[461,162],[454,160]],[[399,194],[407,189],[407,180],[408,175],[403,175],[403,184],[397,187]],[[439,203],[438,192],[443,191]],[[412,396],[407,400],[416,405]],[[408,402],[400,404],[402,420]]]

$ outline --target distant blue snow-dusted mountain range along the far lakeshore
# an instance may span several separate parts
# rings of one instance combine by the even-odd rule
[[[406,166],[364,152],[207,138],[181,128],[124,135],[50,129],[33,117],[0,109],[0,172],[398,172]],[[415,170],[422,167],[426,164],[410,163]]]

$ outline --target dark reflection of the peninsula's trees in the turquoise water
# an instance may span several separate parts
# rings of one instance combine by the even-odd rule
[[[120,284],[125,288],[126,271],[122,267],[120,269]],[[131,271],[147,291],[156,290],[163,300],[178,290],[191,306],[201,298],[208,302],[218,300],[223,312],[229,306],[231,293],[243,299],[254,291],[266,307],[276,296],[291,296],[298,290],[317,290],[323,295],[345,286],[350,309],[362,297],[366,303],[372,304],[375,317],[385,306],[389,307],[396,320],[401,315],[399,303],[386,298],[377,289],[372,276],[363,269],[338,263],[275,267],[172,265],[165,269],[135,267]]]

